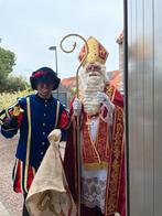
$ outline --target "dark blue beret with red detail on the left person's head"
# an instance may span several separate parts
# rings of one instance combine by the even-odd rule
[[[36,89],[37,82],[51,82],[54,86],[53,90],[55,90],[58,87],[61,79],[52,68],[41,67],[32,73],[30,82],[33,89]]]

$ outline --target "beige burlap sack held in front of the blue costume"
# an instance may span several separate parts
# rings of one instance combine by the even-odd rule
[[[48,140],[51,145],[30,187],[26,208],[31,216],[76,216],[61,161],[61,131],[53,130]]]

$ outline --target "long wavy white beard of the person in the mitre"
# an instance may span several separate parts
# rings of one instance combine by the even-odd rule
[[[80,99],[84,105],[84,110],[88,115],[95,115],[99,112],[100,104],[97,99],[97,91],[104,91],[105,78],[100,76],[88,76],[88,74],[82,75],[79,83]]]

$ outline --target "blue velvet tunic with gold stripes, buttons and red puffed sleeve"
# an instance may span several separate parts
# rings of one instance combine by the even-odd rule
[[[28,101],[30,101],[30,104]],[[22,163],[22,192],[28,192],[29,186],[25,185],[28,184],[28,170],[32,168],[34,172],[36,172],[39,169],[50,145],[47,136],[53,129],[60,128],[62,130],[62,140],[65,140],[69,121],[64,106],[53,96],[51,96],[50,99],[42,99],[37,95],[30,95],[20,98],[18,104],[24,112],[19,127],[20,139],[15,158]],[[6,138],[12,138],[18,133],[19,129],[4,129],[2,126],[1,133]],[[13,169],[13,182],[17,179],[17,169],[15,164]]]

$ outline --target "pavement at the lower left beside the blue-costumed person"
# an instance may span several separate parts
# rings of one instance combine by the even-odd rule
[[[12,169],[18,137],[0,134],[0,216],[21,216],[22,195],[12,190]]]

